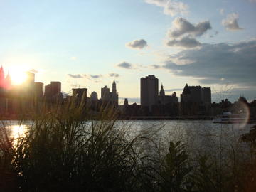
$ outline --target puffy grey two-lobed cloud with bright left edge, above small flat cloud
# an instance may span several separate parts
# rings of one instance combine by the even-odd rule
[[[209,21],[201,21],[193,25],[185,18],[178,17],[174,19],[172,28],[168,31],[168,36],[170,38],[178,38],[183,35],[202,36],[209,29],[211,29]]]

